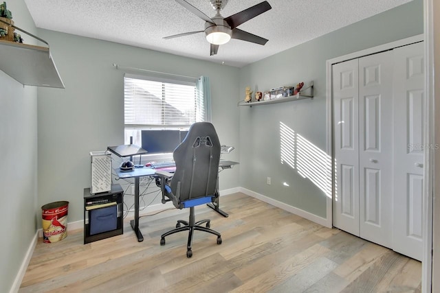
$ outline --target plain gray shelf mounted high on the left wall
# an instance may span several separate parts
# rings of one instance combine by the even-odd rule
[[[64,89],[48,47],[0,40],[0,70],[23,85]]]

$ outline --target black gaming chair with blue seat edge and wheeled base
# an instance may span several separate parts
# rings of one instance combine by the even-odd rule
[[[214,202],[219,196],[220,143],[214,126],[208,122],[197,122],[190,126],[188,134],[173,152],[176,164],[174,174],[156,172],[162,189],[162,203],[173,201],[177,209],[190,208],[189,221],[177,221],[176,228],[162,234],[160,244],[165,245],[165,237],[181,231],[189,231],[186,257],[192,257],[192,234],[195,230],[221,235],[210,229],[210,220],[195,222],[195,206]],[[201,224],[205,224],[201,226]],[[181,226],[183,225],[183,226]]]

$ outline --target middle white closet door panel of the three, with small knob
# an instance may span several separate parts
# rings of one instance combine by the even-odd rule
[[[359,59],[360,236],[386,247],[393,226],[393,51]]]

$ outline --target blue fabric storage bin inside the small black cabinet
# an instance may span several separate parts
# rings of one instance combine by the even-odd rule
[[[116,205],[90,211],[90,235],[112,231],[117,228],[118,210]]]

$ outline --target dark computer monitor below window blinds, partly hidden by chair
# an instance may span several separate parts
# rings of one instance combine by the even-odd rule
[[[188,131],[181,130],[142,130],[142,148],[148,154],[174,152],[184,140]]]

